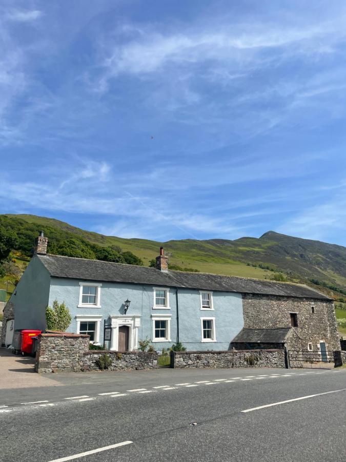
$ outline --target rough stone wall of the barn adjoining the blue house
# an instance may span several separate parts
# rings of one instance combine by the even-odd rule
[[[289,350],[308,350],[311,342],[317,351],[321,340],[328,351],[340,350],[333,301],[243,294],[242,303],[245,329],[291,327],[290,313],[297,313],[298,327],[288,339]]]

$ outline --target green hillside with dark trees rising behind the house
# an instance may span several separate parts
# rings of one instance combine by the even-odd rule
[[[53,254],[149,266],[163,245],[166,252],[172,253],[173,269],[188,267],[207,273],[306,283],[334,297],[337,313],[341,313],[338,317],[346,318],[346,247],[340,245],[273,231],[259,238],[234,241],[124,239],[35,215],[0,215],[0,233],[1,229],[11,229],[18,237],[18,245],[11,252],[18,274],[5,275],[0,288],[5,288],[6,281],[15,282],[20,277],[32,255],[34,239],[43,229],[49,239],[48,252]]]

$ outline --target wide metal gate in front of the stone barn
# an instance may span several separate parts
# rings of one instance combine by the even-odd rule
[[[332,369],[335,365],[334,351],[288,351],[291,368]]]

